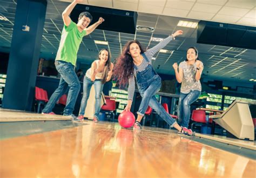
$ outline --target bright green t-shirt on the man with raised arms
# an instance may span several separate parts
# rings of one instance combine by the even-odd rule
[[[63,60],[75,66],[79,45],[85,35],[86,31],[80,32],[77,24],[72,21],[69,26],[64,25],[55,60]]]

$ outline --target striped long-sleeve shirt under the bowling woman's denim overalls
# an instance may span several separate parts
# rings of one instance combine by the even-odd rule
[[[133,95],[135,91],[135,79],[134,79],[134,73],[141,72],[146,69],[146,67],[152,63],[152,57],[154,54],[156,54],[160,49],[165,47],[171,40],[173,39],[172,36],[169,36],[165,38],[163,41],[158,43],[156,46],[152,47],[151,49],[147,50],[144,54],[146,55],[147,59],[149,59],[149,62],[146,61],[145,58],[142,60],[142,64],[140,64],[138,69],[136,70],[134,68],[133,73],[131,74],[131,77],[129,78],[129,87],[128,87],[128,100],[133,100]]]

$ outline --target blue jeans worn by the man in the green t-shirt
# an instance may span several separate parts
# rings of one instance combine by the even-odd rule
[[[60,74],[59,86],[55,92],[52,93],[51,98],[43,109],[43,113],[50,113],[58,99],[64,93],[69,91],[68,98],[66,99],[66,107],[64,108],[64,114],[70,115],[73,113],[76,104],[77,96],[80,91],[80,83],[74,70],[74,66],[71,63],[56,60],[55,66]]]

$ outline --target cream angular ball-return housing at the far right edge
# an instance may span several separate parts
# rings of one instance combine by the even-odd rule
[[[254,125],[248,102],[235,100],[226,111],[210,115],[210,118],[237,138],[254,140]]]

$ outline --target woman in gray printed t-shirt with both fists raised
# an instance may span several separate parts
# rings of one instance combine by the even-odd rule
[[[181,62],[179,67],[177,63],[174,63],[172,66],[178,83],[181,83],[178,121],[181,126],[188,127],[190,121],[190,105],[201,94],[200,78],[204,65],[198,58],[196,47],[190,47],[187,50],[186,60]]]

